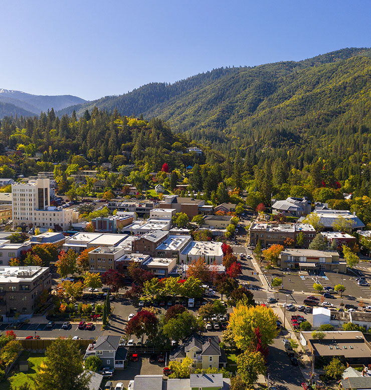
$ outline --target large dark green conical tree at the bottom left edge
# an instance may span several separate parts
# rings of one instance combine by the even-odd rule
[[[88,390],[89,376],[83,356],[71,338],[57,338],[47,348],[45,360],[36,373],[38,390]]]

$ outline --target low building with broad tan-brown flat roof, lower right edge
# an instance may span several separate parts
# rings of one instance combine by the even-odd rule
[[[362,332],[329,331],[324,334],[325,337],[319,340],[313,338],[312,332],[300,332],[300,343],[311,352],[315,365],[318,359],[330,361],[338,357],[345,364],[368,366],[371,346]]]

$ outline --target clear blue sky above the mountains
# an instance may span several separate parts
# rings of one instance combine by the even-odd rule
[[[84,99],[371,46],[367,0],[2,0],[0,88]]]

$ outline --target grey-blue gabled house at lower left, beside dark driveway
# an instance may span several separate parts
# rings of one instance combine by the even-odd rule
[[[84,359],[98,356],[103,367],[124,368],[127,349],[120,347],[121,336],[99,336],[97,341],[89,344]]]

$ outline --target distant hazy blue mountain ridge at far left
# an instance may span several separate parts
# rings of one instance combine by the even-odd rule
[[[41,111],[47,111],[52,107],[54,110],[60,110],[74,104],[85,103],[86,100],[72,95],[31,95],[21,91],[0,89],[0,102],[12,104],[23,110],[30,111],[32,115],[39,115]],[[10,113],[5,112],[1,117],[11,115],[11,112],[12,110]]]

